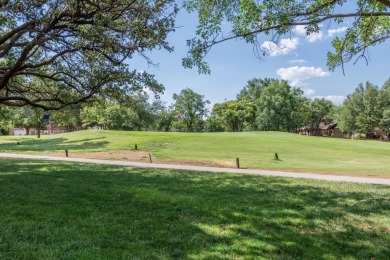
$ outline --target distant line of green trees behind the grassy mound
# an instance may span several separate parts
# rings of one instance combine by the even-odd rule
[[[268,78],[249,80],[236,99],[214,104],[211,111],[205,96],[189,88],[174,94],[173,100],[169,105],[159,99],[150,102],[143,93],[120,102],[98,99],[60,111],[0,107],[0,126],[3,134],[11,127],[43,128],[48,123],[137,131],[296,132],[302,126],[316,129],[320,123],[332,122],[349,134],[365,134],[376,128],[387,135],[390,132],[390,80],[382,87],[360,84],[340,106],[324,98],[309,99],[287,81]]]

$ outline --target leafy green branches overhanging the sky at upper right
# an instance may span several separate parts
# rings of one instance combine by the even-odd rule
[[[244,39],[253,44],[261,58],[267,49],[258,41],[260,34],[280,45],[281,37],[293,35],[295,26],[304,26],[307,34],[318,33],[321,23],[343,23],[348,29],[342,38],[333,40],[334,51],[328,53],[328,67],[343,66],[354,57],[366,57],[370,46],[390,37],[390,1],[388,0],[186,0],[185,7],[197,12],[197,37],[188,41],[189,56],[185,67],[197,66],[200,72],[209,72],[204,56],[216,44]],[[348,21],[346,21],[348,20]],[[229,27],[230,25],[230,27]],[[226,28],[230,30],[227,32]],[[367,61],[367,59],[366,59]]]

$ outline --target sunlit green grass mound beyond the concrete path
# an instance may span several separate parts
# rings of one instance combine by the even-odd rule
[[[16,142],[20,145],[16,145]],[[390,176],[390,143],[301,136],[280,132],[157,133],[79,131],[36,137],[1,137],[0,151],[71,153],[132,150],[160,159],[222,162],[246,168]],[[274,153],[280,160],[274,160]]]

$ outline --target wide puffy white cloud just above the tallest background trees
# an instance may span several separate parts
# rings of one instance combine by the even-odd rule
[[[276,71],[282,79],[289,81],[303,81],[311,78],[329,76],[329,72],[323,71],[321,68],[315,67],[289,67],[280,68]]]

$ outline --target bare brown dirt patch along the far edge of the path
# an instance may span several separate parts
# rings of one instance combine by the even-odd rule
[[[65,157],[64,154],[47,154],[55,157]],[[149,153],[144,151],[113,151],[113,152],[94,152],[94,153],[69,153],[71,158],[98,159],[98,160],[113,160],[113,161],[129,161],[129,162],[145,162],[149,163]],[[153,163],[161,164],[177,164],[177,165],[194,165],[233,168],[235,165],[228,162],[207,162],[195,160],[180,160],[180,159],[157,159],[152,156]]]

